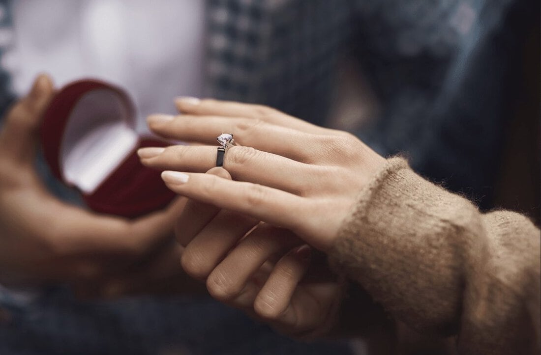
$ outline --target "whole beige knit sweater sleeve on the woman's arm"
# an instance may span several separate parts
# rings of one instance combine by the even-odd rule
[[[457,336],[461,354],[537,353],[540,232],[480,213],[392,158],[359,195],[329,257],[394,319]]]

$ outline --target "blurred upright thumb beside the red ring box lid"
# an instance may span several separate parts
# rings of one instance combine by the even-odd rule
[[[0,132],[0,153],[19,163],[33,162],[43,111],[54,95],[51,78],[39,75],[27,96],[5,117]]]

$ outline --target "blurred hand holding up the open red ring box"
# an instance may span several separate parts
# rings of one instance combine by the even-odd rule
[[[65,204],[47,191],[34,162],[39,118],[54,93],[50,78],[39,76],[0,131],[0,282],[69,283],[81,297],[199,288],[181,269],[182,247],[173,236],[186,199],[128,220]]]

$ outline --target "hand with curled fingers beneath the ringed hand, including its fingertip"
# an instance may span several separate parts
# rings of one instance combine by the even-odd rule
[[[209,172],[224,179],[222,168]],[[176,224],[182,266],[230,306],[296,337],[335,323],[344,283],[291,231],[190,200]]]

